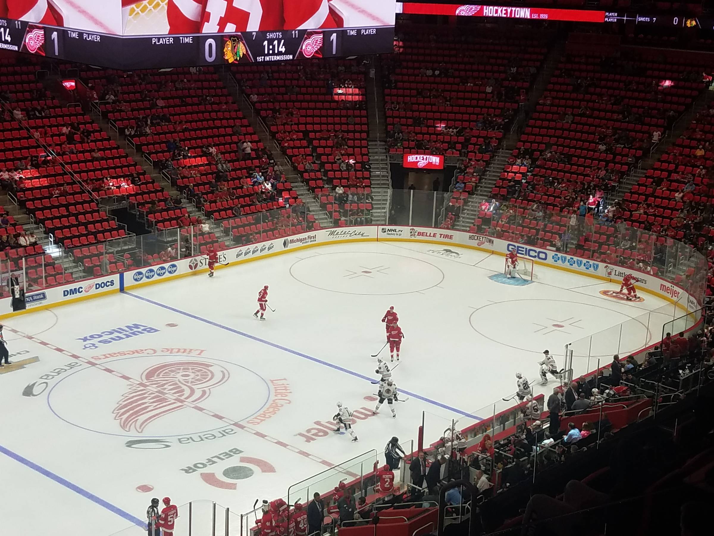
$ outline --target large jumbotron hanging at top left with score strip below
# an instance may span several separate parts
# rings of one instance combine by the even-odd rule
[[[0,49],[117,69],[393,50],[396,0],[0,0]]]

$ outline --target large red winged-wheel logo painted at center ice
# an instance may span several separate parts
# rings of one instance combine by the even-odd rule
[[[141,381],[148,388],[132,384],[129,391],[121,396],[114,408],[114,420],[119,421],[125,432],[132,429],[144,432],[151,422],[186,407],[181,401],[196,403],[205,400],[210,396],[211,389],[225,383],[229,376],[223,367],[200,361],[155,365],[141,373]]]

